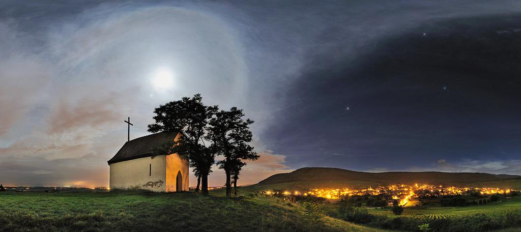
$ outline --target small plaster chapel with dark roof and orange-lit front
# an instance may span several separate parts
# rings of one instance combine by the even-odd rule
[[[188,191],[188,160],[178,154],[154,156],[152,149],[180,136],[160,132],[127,141],[108,161],[110,189]]]

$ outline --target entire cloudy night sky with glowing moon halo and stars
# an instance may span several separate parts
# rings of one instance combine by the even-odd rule
[[[521,175],[518,1],[82,4],[0,3],[4,185],[108,186],[123,120],[147,135],[154,107],[195,93],[256,121],[239,184],[308,166]]]

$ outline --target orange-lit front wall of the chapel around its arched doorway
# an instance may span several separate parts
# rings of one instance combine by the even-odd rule
[[[181,171],[183,176],[183,191],[188,191],[188,160],[181,158],[178,154],[166,156],[166,191],[176,191],[177,172]]]

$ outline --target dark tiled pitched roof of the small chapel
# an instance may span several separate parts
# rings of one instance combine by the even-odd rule
[[[159,132],[125,142],[121,149],[107,163],[152,156],[152,149],[176,138],[178,132]]]

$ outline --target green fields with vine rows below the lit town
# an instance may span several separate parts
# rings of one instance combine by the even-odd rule
[[[346,219],[338,213],[338,205],[329,205],[328,214]],[[405,207],[401,215],[389,209],[368,209],[346,220],[371,227],[415,231],[427,223],[431,231],[521,231],[521,197],[501,202],[462,207]]]

